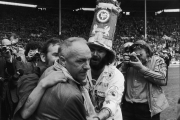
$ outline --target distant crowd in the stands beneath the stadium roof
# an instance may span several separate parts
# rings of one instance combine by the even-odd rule
[[[60,37],[62,40],[70,36],[80,36],[88,39],[93,12],[62,11],[61,36],[59,36],[59,15],[51,11],[6,10],[1,11],[0,37],[7,37],[9,33],[16,33],[25,46],[29,41],[45,42],[51,37]],[[163,36],[172,38],[162,39]],[[119,17],[114,36],[114,50],[121,53],[121,46],[128,41],[134,42],[144,39],[144,18],[123,16]],[[148,17],[147,41],[154,50],[171,47],[179,51],[180,21],[176,17]],[[165,46],[163,46],[165,45]]]

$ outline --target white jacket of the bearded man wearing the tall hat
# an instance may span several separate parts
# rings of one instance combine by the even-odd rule
[[[95,111],[98,113],[101,109],[107,108],[111,115],[107,120],[122,120],[119,104],[124,91],[123,74],[115,66],[105,66],[98,80],[94,82],[89,70],[87,88],[90,91]]]

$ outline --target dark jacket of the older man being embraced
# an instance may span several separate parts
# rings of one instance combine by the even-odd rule
[[[82,94],[76,84],[58,83],[46,90],[32,120],[86,120]]]

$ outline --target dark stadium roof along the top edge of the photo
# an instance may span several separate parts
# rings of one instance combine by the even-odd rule
[[[36,4],[39,7],[58,8],[59,0],[4,0],[8,2]],[[96,0],[61,0],[63,9],[94,8]],[[144,0],[118,0],[124,11],[144,11]],[[159,11],[162,9],[177,9],[180,0],[147,0],[147,11]]]

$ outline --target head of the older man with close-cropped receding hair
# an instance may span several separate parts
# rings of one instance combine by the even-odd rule
[[[87,41],[83,38],[72,37],[65,40],[59,48],[61,64],[68,70],[71,76],[80,84],[87,77],[90,69],[91,51]]]

